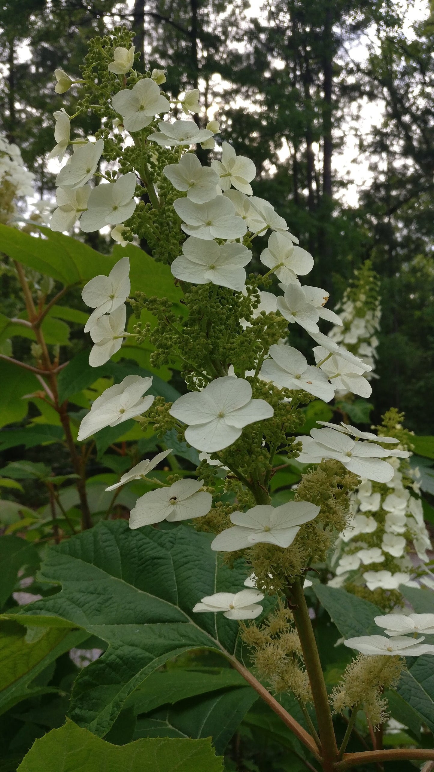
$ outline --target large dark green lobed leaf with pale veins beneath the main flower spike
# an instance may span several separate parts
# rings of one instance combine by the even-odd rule
[[[131,531],[116,520],[49,547],[40,578],[62,591],[24,609],[26,624],[57,615],[109,644],[76,679],[73,720],[104,736],[134,689],[168,659],[197,648],[234,653],[236,621],[192,613],[205,595],[244,587],[244,564],[233,571],[221,564],[212,539],[185,526]]]

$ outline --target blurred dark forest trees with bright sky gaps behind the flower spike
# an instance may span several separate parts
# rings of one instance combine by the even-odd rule
[[[89,38],[124,24],[143,66],[167,85],[199,87],[237,152],[257,167],[254,193],[278,206],[315,256],[312,283],[338,300],[366,259],[381,277],[377,420],[391,405],[409,428],[434,434],[434,13],[405,32],[396,0],[274,0],[258,18],[244,0],[5,0],[0,8],[0,129],[22,148],[39,193],[53,189],[45,157],[52,113],[74,110],[54,69],[79,76]],[[352,58],[362,39],[366,56]],[[22,56],[28,46],[29,56]],[[362,103],[381,110],[359,136],[372,181],[345,203],[339,153]],[[205,120],[205,119],[197,119]],[[86,120],[84,134],[95,130]]]

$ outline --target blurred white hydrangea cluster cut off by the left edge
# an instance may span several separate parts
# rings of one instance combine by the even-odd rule
[[[12,222],[17,214],[15,200],[34,196],[35,174],[25,168],[18,145],[0,133],[0,222]]]

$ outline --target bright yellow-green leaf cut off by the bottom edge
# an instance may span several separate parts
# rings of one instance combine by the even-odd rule
[[[36,740],[17,772],[223,772],[210,740],[100,740],[68,721]]]

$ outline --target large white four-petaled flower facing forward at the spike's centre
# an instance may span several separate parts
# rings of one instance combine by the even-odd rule
[[[214,453],[232,445],[244,426],[273,415],[271,405],[251,394],[248,381],[226,375],[211,381],[204,391],[183,394],[173,402],[170,415],[188,425],[185,438],[193,448]]]

